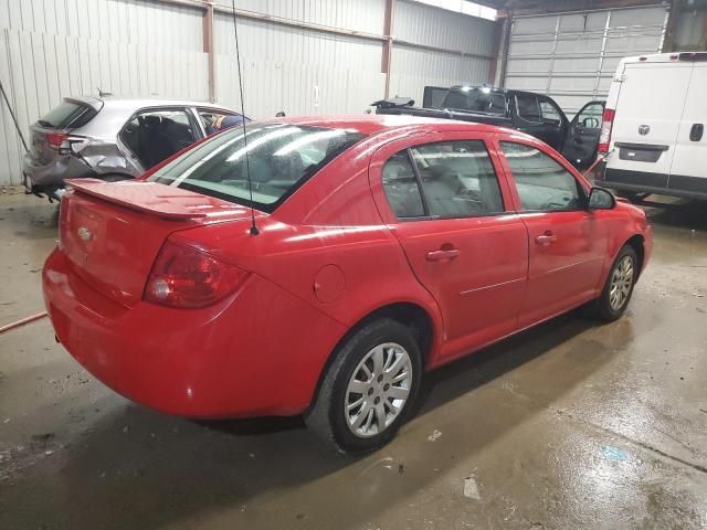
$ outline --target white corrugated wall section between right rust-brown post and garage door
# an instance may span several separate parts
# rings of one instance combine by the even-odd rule
[[[414,2],[400,1],[393,18],[397,39],[425,46],[465,52],[420,50],[397,43],[391,60],[390,95],[411,96],[422,104],[425,85],[451,86],[489,81],[495,23]]]

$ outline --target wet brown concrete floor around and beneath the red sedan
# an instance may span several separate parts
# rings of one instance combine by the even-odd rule
[[[365,458],[298,420],[136,406],[46,319],[0,336],[2,529],[707,528],[707,204],[650,209],[630,310],[558,318],[433,373]],[[0,326],[43,310],[53,208],[0,194]]]

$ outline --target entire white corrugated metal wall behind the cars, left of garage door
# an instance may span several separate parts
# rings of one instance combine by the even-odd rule
[[[218,0],[230,7],[229,0]],[[382,35],[386,0],[236,0],[236,9]],[[156,0],[0,0],[0,78],[24,131],[62,97],[209,97],[203,9]],[[399,0],[391,95],[488,80],[494,23]],[[245,103],[254,117],[362,112],[383,97],[383,40],[239,19]],[[233,21],[214,14],[215,99],[239,106]],[[451,51],[464,52],[463,56]],[[472,54],[474,56],[468,56]],[[0,186],[21,182],[22,148],[0,104]]]

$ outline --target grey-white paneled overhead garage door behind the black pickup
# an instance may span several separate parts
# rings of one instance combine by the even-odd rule
[[[571,118],[605,99],[621,57],[659,52],[667,7],[514,18],[505,86],[548,94]]]

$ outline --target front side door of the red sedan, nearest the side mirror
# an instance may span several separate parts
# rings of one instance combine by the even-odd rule
[[[528,229],[527,327],[598,296],[608,231],[602,212],[587,208],[587,183],[544,146],[500,136],[498,150]]]

